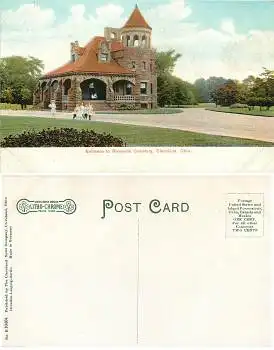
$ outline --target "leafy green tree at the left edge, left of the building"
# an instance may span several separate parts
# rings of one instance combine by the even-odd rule
[[[1,58],[0,100],[2,102],[12,101],[13,103],[23,104],[32,103],[32,94],[43,68],[42,61],[31,56]],[[12,93],[12,98],[10,93]]]

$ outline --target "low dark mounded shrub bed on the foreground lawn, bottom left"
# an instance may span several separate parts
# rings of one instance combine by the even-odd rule
[[[42,131],[10,135],[0,143],[1,147],[125,147],[120,138],[111,134],[98,134],[93,130],[53,128]]]

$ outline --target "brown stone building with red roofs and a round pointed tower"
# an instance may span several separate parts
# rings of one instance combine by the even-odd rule
[[[95,110],[120,105],[157,106],[156,52],[152,28],[138,6],[122,28],[106,27],[84,47],[71,43],[70,61],[44,75],[34,93],[34,105],[48,108],[54,99],[58,110],[73,110],[92,102]]]

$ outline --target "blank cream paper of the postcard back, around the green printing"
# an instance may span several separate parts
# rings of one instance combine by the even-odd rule
[[[2,180],[14,251],[4,345],[270,345],[269,176]],[[262,237],[226,238],[227,193],[264,193]],[[77,211],[21,215],[20,198],[72,198]],[[190,212],[152,214],[153,198],[187,201]],[[143,207],[102,220],[103,199]]]

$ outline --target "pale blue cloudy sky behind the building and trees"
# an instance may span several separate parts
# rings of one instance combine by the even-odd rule
[[[1,0],[1,56],[34,56],[45,72],[70,59],[70,42],[84,46],[104,27],[121,27],[136,1]],[[182,54],[175,74],[194,82],[242,80],[274,70],[274,0],[139,0],[158,50]]]

